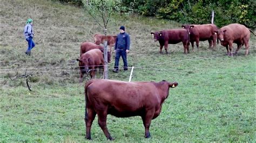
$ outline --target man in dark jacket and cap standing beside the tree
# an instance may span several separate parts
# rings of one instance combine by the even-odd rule
[[[118,72],[120,56],[122,56],[124,62],[124,70],[128,69],[126,54],[130,50],[130,35],[125,33],[124,26],[121,26],[119,30],[120,33],[117,35],[116,44],[114,45],[114,53],[116,53],[116,57],[114,58],[114,69],[112,71],[115,73]]]

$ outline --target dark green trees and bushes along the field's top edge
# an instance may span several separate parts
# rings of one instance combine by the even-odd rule
[[[59,1],[83,5],[82,0]],[[120,7],[122,13],[138,13],[183,24],[211,23],[212,10],[215,13],[214,24],[219,27],[240,23],[255,28],[255,0],[123,0]]]

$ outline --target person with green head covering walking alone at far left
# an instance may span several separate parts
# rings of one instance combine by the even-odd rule
[[[31,54],[31,49],[35,47],[35,43],[33,42],[33,20],[28,19],[26,21],[26,26],[24,27],[24,37],[26,41],[28,41],[28,49],[26,50],[25,54],[30,55]]]

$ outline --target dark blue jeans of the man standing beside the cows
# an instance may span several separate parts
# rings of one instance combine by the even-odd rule
[[[127,58],[126,58],[126,49],[117,49],[116,50],[116,57],[114,58],[114,69],[118,70],[118,65],[119,65],[119,59],[120,56],[122,56],[123,62],[124,62],[124,70],[127,70],[128,68],[128,63],[127,63]]]

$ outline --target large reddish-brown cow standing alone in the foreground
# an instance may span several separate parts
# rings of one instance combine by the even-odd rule
[[[90,80],[85,85],[86,138],[91,139],[91,125],[98,115],[98,124],[107,139],[112,140],[106,127],[107,115],[116,117],[140,116],[145,127],[145,138],[150,138],[151,120],[157,118],[169,95],[169,88],[177,82],[124,82]]]

